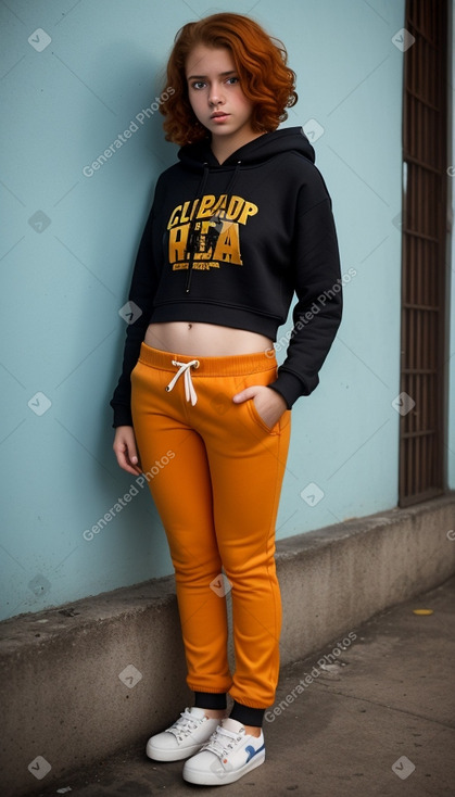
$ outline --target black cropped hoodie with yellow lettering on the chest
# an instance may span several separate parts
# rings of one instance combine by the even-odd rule
[[[208,141],[178,157],[156,182],[136,258],[114,427],[132,426],[130,374],[150,322],[202,321],[276,341],[295,293],[287,356],[269,385],[290,408],[318,384],[341,321],[331,200],[303,130],[260,136],[222,165]]]

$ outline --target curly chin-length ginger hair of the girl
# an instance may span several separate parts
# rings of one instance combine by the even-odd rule
[[[189,22],[176,35],[165,84],[174,92],[160,104],[160,113],[165,117],[166,141],[185,146],[210,135],[197,119],[188,98],[185,67],[197,45],[230,50],[242,91],[253,103],[251,124],[255,132],[276,130],[280,122],[288,118],[286,109],[295,105],[298,94],[295,73],[287,65],[283,43],[268,36],[248,16],[212,14],[199,22]]]

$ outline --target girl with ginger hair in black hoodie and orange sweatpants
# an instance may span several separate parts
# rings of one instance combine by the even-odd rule
[[[149,739],[147,755],[187,759],[184,777],[201,785],[232,783],[265,758],[290,409],[316,388],[341,319],[330,197],[302,129],[277,130],[294,85],[281,42],[249,17],[214,14],[177,34],[161,111],[179,163],[156,184],[129,293],[137,319],[111,402],[122,468],[139,475],[174,454],[150,490],[175,568],[194,705]],[[278,368],[274,341],[294,294]]]

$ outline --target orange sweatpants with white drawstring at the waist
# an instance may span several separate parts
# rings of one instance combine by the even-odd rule
[[[253,400],[235,404],[232,396],[276,372],[273,350],[194,360],[142,343],[131,374],[143,472],[169,450],[175,455],[149,485],[175,569],[188,686],[229,693],[252,708],[274,703],[278,681],[275,522],[291,413],[268,429]],[[222,568],[231,587],[233,674]]]

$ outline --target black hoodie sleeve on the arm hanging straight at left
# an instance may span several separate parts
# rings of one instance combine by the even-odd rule
[[[157,288],[159,274],[153,255],[153,226],[160,207],[156,185],[152,210],[139,244],[132,273],[128,301],[131,303],[131,321],[126,329],[126,340],[122,374],[110,402],[114,410],[113,427],[132,426],[131,417],[131,371],[138,362],[140,346],[146,337],[152,314],[153,299]]]

